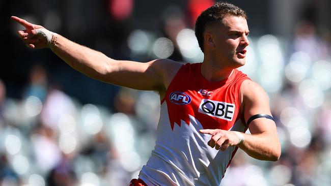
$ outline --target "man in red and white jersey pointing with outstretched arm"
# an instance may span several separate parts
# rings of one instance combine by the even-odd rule
[[[18,35],[27,47],[48,47],[92,78],[159,93],[156,145],[130,185],[219,185],[238,147],[259,160],[279,159],[266,93],[236,70],[245,64],[249,45],[240,8],[216,3],[198,17],[196,36],[205,57],[186,65],[169,59],[114,60],[40,25],[12,19],[25,26]],[[244,133],[247,129],[251,134]]]

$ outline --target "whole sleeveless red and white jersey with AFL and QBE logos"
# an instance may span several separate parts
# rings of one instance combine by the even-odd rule
[[[147,185],[219,185],[238,147],[211,148],[211,136],[199,130],[247,130],[240,85],[249,78],[233,70],[228,79],[210,82],[200,67],[183,65],[161,101],[156,145],[139,175]]]

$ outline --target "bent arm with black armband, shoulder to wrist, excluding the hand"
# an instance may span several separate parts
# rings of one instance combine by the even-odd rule
[[[269,114],[269,101],[263,88],[251,80],[241,85],[244,119],[255,114]],[[238,147],[251,157],[259,160],[277,161],[281,155],[281,145],[275,123],[271,119],[254,119],[249,129],[251,134],[243,134],[244,142]]]

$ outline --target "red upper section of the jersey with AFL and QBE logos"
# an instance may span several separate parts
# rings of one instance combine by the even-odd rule
[[[229,130],[240,119],[240,85],[248,78],[233,70],[228,79],[211,82],[200,71],[201,64],[186,64],[171,82],[166,97],[171,128],[189,125],[189,116],[197,118],[204,129]]]

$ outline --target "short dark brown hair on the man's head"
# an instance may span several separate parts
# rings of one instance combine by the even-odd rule
[[[196,37],[198,39],[198,43],[199,43],[199,46],[200,46],[202,52],[204,52],[203,33],[205,31],[206,24],[213,23],[213,22],[222,23],[222,20],[226,15],[232,15],[232,16],[238,16],[238,17],[241,16],[241,17],[247,19],[247,15],[246,15],[245,11],[243,11],[241,8],[239,8],[235,5],[232,5],[232,4],[226,3],[226,2],[215,3],[213,6],[204,10],[197,18],[195,32],[196,32]]]

